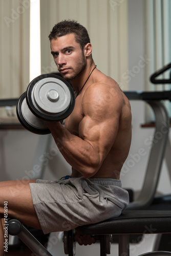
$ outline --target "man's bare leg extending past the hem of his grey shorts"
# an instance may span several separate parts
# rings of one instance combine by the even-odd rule
[[[0,182],[0,217],[4,219],[4,202],[8,202],[8,217],[41,229],[32,202],[29,183],[34,180]],[[4,255],[4,231],[0,221],[0,256]]]

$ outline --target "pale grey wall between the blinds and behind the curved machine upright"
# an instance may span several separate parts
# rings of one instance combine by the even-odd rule
[[[144,40],[144,1],[129,0],[128,2],[128,16],[129,16],[129,69],[127,71],[127,79],[129,80],[130,91],[143,91],[145,88],[144,68],[140,68],[140,60],[144,59],[145,67],[148,67],[150,61],[149,56],[145,52]],[[125,76],[126,77],[126,76]],[[130,148],[130,155],[125,161],[126,173],[121,175],[123,187],[131,187],[139,191],[141,189],[146,165],[149,157],[149,148],[145,145],[145,140],[151,138],[154,133],[153,128],[141,128],[141,124],[145,123],[145,105],[141,101],[130,101],[132,107],[132,145]],[[147,106],[149,108],[149,106]],[[145,155],[139,157],[135,165],[129,167],[129,160],[133,159],[131,155],[138,154],[139,149],[143,148]],[[154,159],[155,161],[155,159]],[[165,161],[163,161],[162,173],[158,185],[159,194],[170,193],[170,178],[168,175]]]

